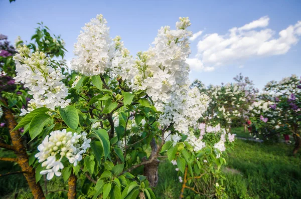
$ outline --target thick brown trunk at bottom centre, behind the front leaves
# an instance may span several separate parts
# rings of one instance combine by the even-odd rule
[[[157,159],[158,145],[156,144],[155,138],[153,138],[150,142],[150,146],[152,147],[152,153],[150,153],[149,159],[155,159],[144,165],[144,176],[146,176],[150,186],[157,186],[159,180],[158,169],[160,160]]]

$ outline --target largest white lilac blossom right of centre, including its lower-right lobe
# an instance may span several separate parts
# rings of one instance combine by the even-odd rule
[[[163,112],[159,119],[162,126],[173,123],[180,133],[188,133],[188,127],[196,124],[209,100],[197,89],[189,89],[189,26],[188,18],[180,18],[177,30],[166,26],[158,31],[154,47],[138,53],[138,72],[131,85],[134,90],[145,90],[156,109]]]

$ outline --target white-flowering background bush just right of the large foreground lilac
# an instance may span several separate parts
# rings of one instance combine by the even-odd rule
[[[233,125],[244,123],[244,116],[248,114],[249,105],[256,100],[258,89],[254,88],[252,81],[241,74],[234,78],[235,83],[221,86],[209,85],[207,88],[196,80],[191,87],[197,87],[210,98],[205,122],[220,124],[227,131]]]

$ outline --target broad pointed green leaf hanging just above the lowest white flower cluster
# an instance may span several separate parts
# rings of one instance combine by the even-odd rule
[[[74,106],[66,106],[65,109],[59,107],[59,111],[64,122],[72,129],[76,130],[79,123],[79,116]]]

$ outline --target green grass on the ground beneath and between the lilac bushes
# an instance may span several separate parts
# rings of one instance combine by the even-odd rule
[[[233,129],[233,132],[239,136],[248,135],[243,128]],[[284,143],[237,139],[224,168],[227,178],[224,186],[229,198],[301,198],[301,151],[294,157],[291,156],[292,148],[292,145]],[[0,153],[2,156],[10,155],[4,151]],[[0,173],[12,169],[18,170],[19,167],[14,163],[0,163]],[[159,176],[155,190],[158,198],[179,198],[182,184],[175,166],[162,160]],[[0,177],[0,198],[15,198],[15,193],[20,196],[26,192],[28,187],[22,174]],[[201,197],[186,189],[184,198]]]

